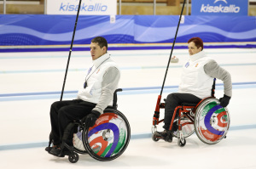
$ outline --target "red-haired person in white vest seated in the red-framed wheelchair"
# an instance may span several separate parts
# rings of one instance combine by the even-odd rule
[[[172,142],[172,132],[177,131],[177,122],[170,125],[175,108],[183,103],[198,104],[201,99],[212,96],[212,83],[218,78],[224,82],[224,97],[219,99],[220,105],[226,107],[232,96],[230,73],[221,68],[217,62],[207,57],[203,51],[200,37],[192,37],[188,41],[189,60],[183,65],[181,82],[177,93],[171,93],[166,98],[164,131],[157,134],[167,142]],[[215,84],[215,83],[214,83]],[[177,117],[177,114],[176,114]]]

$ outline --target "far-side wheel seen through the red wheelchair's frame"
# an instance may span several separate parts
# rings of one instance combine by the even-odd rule
[[[177,119],[175,119],[173,121],[173,123],[175,123],[175,122],[177,122]],[[183,124],[185,122],[190,122],[190,121],[187,118],[183,118],[180,120],[180,124]],[[182,131],[183,131],[183,137],[189,138],[189,136],[191,136],[195,132],[194,124],[187,124],[187,125],[183,126]],[[172,132],[172,136],[177,138],[177,131]]]

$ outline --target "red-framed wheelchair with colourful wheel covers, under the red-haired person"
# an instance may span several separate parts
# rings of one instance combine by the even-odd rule
[[[230,127],[230,114],[226,107],[222,107],[219,104],[219,100],[214,97],[213,88],[212,97],[202,99],[198,104],[184,103],[175,108],[168,132],[172,131],[173,123],[176,122],[178,129],[177,131],[171,132],[171,134],[172,137],[177,138],[178,146],[185,146],[185,138],[188,138],[194,132],[205,144],[217,144],[223,138],[226,138],[226,134]],[[152,127],[152,139],[154,142],[163,139],[156,134],[156,126],[164,121],[159,120],[160,109],[164,108],[165,103],[160,103],[154,111]]]

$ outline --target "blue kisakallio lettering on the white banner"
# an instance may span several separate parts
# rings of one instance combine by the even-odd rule
[[[78,11],[79,5],[72,5],[69,3],[61,3],[60,11]],[[89,12],[105,12],[107,11],[108,6],[102,5],[102,3],[96,3],[95,5],[85,5],[81,4],[80,11],[89,11]]]

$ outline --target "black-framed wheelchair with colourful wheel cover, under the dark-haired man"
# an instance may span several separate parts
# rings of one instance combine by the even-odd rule
[[[78,154],[89,154],[97,161],[112,161],[125,152],[131,138],[131,127],[125,115],[117,110],[117,92],[120,91],[121,88],[113,93],[113,106],[103,111],[93,127],[86,128],[82,121],[73,121],[67,126],[65,132],[68,134],[70,128],[77,128],[73,134],[73,147],[65,143],[65,132],[62,138],[61,149],[69,149],[71,163],[79,161]]]

